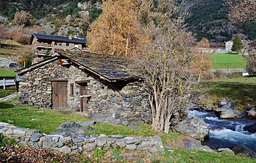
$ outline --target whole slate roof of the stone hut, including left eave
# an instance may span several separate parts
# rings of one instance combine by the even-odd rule
[[[16,72],[19,75],[22,75],[26,72],[37,69],[44,64],[54,62],[57,59],[69,59],[70,62],[80,70],[87,70],[108,82],[138,79],[136,76],[131,75],[131,73],[126,69],[126,67],[131,64],[131,60],[129,58],[93,54],[89,51],[57,51],[57,54],[59,55],[37,62],[36,64],[32,64],[30,67],[22,68]]]

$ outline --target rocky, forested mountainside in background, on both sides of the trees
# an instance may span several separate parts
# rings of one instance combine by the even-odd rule
[[[236,33],[244,40],[256,38],[255,23],[232,25],[228,21],[223,0],[179,0],[178,3],[190,13],[186,24],[197,40],[205,37],[212,42],[224,42]],[[102,12],[101,4],[102,0],[1,0],[0,23],[35,24],[40,25],[41,33],[86,36],[88,26]],[[16,12],[22,15],[22,10],[32,15],[31,23],[15,18]]]

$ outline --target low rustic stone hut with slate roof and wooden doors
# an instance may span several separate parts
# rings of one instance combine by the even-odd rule
[[[150,122],[148,93],[121,57],[86,51],[56,56],[18,70],[20,104],[85,112],[99,121]]]

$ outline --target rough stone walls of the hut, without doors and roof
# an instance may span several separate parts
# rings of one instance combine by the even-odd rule
[[[133,120],[152,120],[147,92],[141,82],[108,83],[73,65],[62,67],[58,61],[20,75],[20,104],[51,108],[51,80],[67,80],[67,109],[80,110],[80,85],[75,81],[88,80],[87,113],[93,119],[123,125]]]

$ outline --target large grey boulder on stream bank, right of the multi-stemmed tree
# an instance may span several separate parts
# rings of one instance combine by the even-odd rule
[[[174,130],[178,133],[191,135],[191,137],[203,141],[204,138],[209,135],[209,128],[204,120],[197,117],[190,117],[186,120],[178,122],[174,127]]]

